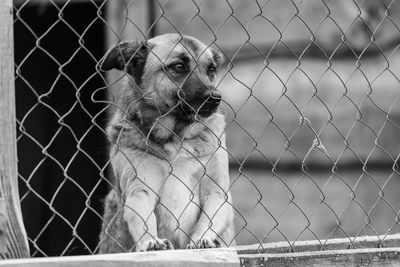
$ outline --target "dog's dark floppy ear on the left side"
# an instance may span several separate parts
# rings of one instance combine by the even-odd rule
[[[128,41],[112,47],[100,63],[100,70],[117,69],[132,75],[136,82],[140,81],[149,52],[146,42]]]

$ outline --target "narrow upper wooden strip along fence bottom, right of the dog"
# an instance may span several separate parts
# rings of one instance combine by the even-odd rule
[[[236,247],[238,254],[257,253],[290,253],[321,250],[344,250],[361,248],[400,247],[400,234],[387,236],[360,236],[328,240],[311,240],[295,242],[273,242]]]

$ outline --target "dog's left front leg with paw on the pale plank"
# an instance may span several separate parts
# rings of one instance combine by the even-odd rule
[[[117,153],[113,169],[124,195],[123,219],[134,241],[135,251],[173,249],[172,243],[158,238],[154,209],[159,200],[163,165],[141,158],[129,150]],[[130,160],[129,160],[130,159]]]

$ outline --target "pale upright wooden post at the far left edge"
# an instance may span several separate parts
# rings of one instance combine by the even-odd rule
[[[18,192],[12,0],[0,0],[0,258],[29,257]]]

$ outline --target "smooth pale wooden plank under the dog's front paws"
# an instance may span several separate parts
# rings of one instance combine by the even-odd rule
[[[67,256],[0,261],[0,267],[46,267],[46,266],[85,266],[85,267],[203,267],[240,266],[239,257],[233,248],[199,250],[165,250],[154,252],[135,252],[103,254],[93,256]]]

